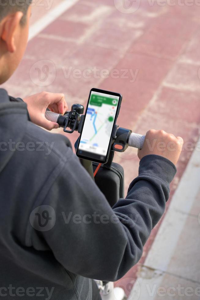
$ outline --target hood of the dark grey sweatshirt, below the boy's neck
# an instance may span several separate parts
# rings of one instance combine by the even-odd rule
[[[6,90],[0,88],[0,172],[14,155],[27,127],[27,105],[10,101]]]

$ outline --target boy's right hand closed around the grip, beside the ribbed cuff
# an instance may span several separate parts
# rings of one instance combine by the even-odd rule
[[[147,131],[143,148],[138,151],[141,160],[144,156],[155,154],[163,156],[176,165],[183,147],[182,137],[175,137],[164,130]]]

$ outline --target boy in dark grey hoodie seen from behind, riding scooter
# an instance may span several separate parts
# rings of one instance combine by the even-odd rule
[[[27,0],[10,1],[0,6],[1,84],[24,54],[31,14]],[[115,281],[139,261],[165,211],[183,140],[147,132],[139,176],[111,208],[67,138],[33,124],[56,128],[44,113],[64,113],[64,95],[44,92],[24,102],[0,89],[0,296],[97,299],[89,278]]]

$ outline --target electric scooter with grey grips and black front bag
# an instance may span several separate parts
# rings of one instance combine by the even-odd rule
[[[52,122],[56,122],[59,124],[60,127],[63,127],[63,131],[66,133],[73,133],[74,131],[78,131],[78,133],[81,133],[82,127],[83,127],[83,121],[84,121],[84,107],[81,104],[73,104],[71,111],[67,111],[64,115],[57,114],[51,111],[46,111],[45,117]],[[69,128],[69,129],[67,129]],[[87,172],[90,174],[91,178],[96,181],[96,175],[98,174],[99,169],[106,170],[107,172],[111,171],[111,168],[113,168],[113,157],[114,152],[124,152],[129,147],[135,147],[138,149],[142,149],[143,143],[144,143],[145,136],[133,133],[130,129],[119,127],[118,125],[115,125],[114,131],[113,131],[113,144],[109,153],[109,159],[108,162],[104,165],[98,164],[97,166],[92,163],[92,161],[87,159],[80,159],[81,164],[83,167],[87,170]],[[78,140],[75,143],[75,148],[77,148]],[[121,166],[120,166],[121,167]],[[121,167],[122,168],[122,167]],[[113,168],[116,170],[116,168]],[[122,180],[120,181],[120,187],[119,190],[124,189],[124,174],[121,173]],[[108,186],[112,186],[109,185]],[[117,183],[116,183],[117,186]],[[104,190],[102,192],[106,193]],[[118,198],[117,198],[118,197]],[[112,206],[114,203],[116,203],[119,200],[119,196],[116,196],[114,199],[107,199],[109,204]],[[102,300],[123,300],[125,299],[125,293],[124,290],[120,287],[114,287],[113,282],[103,282],[101,280],[95,280],[98,289],[100,292],[100,295],[102,297]]]

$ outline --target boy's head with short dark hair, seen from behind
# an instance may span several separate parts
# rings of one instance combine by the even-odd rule
[[[0,1],[0,84],[20,63],[28,41],[31,0]]]

